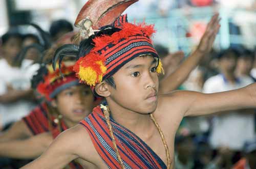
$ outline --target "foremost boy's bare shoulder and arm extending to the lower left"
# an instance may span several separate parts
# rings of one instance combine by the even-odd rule
[[[94,147],[92,143],[88,144],[89,140],[90,136],[82,125],[72,127],[59,134],[40,157],[21,169],[62,169],[81,154],[91,156],[90,150]]]

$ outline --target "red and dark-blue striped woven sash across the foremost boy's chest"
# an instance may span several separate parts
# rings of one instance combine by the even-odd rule
[[[110,119],[117,148],[125,168],[166,168],[160,157],[143,140],[129,129],[117,124],[112,118]],[[95,107],[92,114],[82,120],[80,124],[87,129],[96,151],[105,164],[109,168],[120,168],[110,131],[100,106]]]

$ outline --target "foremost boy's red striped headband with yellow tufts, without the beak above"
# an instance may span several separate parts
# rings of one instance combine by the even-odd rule
[[[74,71],[81,81],[94,87],[115,74],[127,62],[141,55],[152,55],[156,58],[157,72],[161,73],[162,65],[151,40],[155,33],[154,25],[144,22],[132,24],[127,22],[126,15],[122,15],[113,26],[120,31],[112,35],[96,36],[90,53],[76,62]]]

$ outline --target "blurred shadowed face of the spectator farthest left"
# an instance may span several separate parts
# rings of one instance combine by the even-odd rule
[[[3,45],[4,57],[14,60],[22,47],[22,39],[18,37],[10,37]]]

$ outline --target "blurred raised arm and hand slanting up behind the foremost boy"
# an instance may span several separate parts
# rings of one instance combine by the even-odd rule
[[[160,81],[160,94],[176,90],[199,64],[204,55],[209,53],[220,28],[219,22],[219,14],[212,16],[197,49],[172,74]]]

